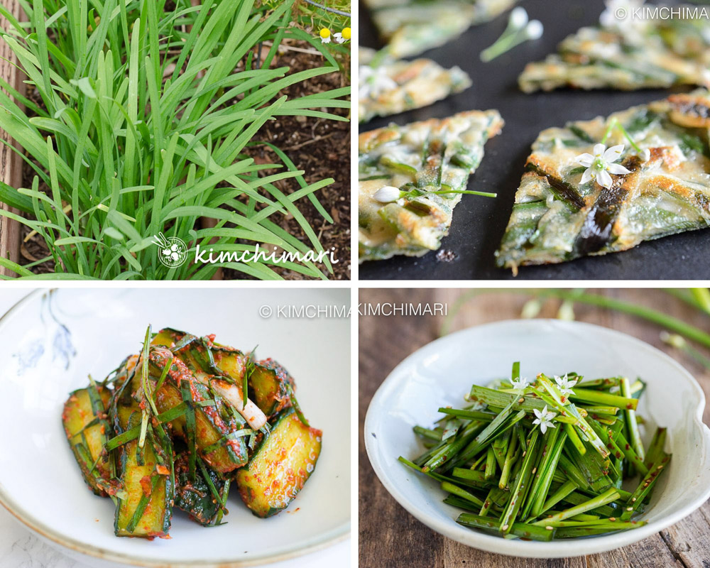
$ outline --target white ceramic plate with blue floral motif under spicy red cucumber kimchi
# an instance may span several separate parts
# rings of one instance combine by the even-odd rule
[[[248,566],[293,557],[349,534],[350,324],[278,317],[279,306],[350,304],[349,290],[67,289],[34,293],[0,320],[0,502],[68,550],[141,566]],[[259,315],[268,305],[271,317]],[[266,311],[266,310],[265,310]],[[259,519],[230,496],[228,524],[173,515],[171,540],[117,538],[114,506],[84,485],[61,424],[70,391],[140,350],[148,323],[258,344],[295,377],[298,400],[323,430],[315,472],[288,510]]]

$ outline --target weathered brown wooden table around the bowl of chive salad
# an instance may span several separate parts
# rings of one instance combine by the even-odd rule
[[[597,290],[599,291],[599,290]],[[449,315],[461,293],[454,289],[363,289],[360,302],[446,302]],[[613,297],[643,303],[701,327],[710,317],[660,290],[603,290]],[[451,318],[452,331],[520,316],[528,295],[495,293],[471,297]],[[556,317],[559,300],[547,300],[539,317]],[[694,359],[669,348],[660,328],[634,317],[576,305],[576,319],[618,329],[670,354],[701,383],[710,400],[710,373]],[[361,316],[359,319],[359,555],[360,567],[508,568],[508,567],[677,567],[710,568],[710,501],[672,527],[612,552],[566,559],[526,559],[483,552],[454,542],[422,525],[407,513],[377,479],[365,452],[363,424],[380,383],[405,356],[439,335],[442,317]],[[704,421],[710,423],[710,408]]]

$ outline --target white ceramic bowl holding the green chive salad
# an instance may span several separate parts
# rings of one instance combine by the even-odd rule
[[[461,408],[472,383],[510,376],[513,361],[521,376],[640,376],[648,384],[640,414],[648,443],[656,425],[668,427],[666,450],[673,453],[648,510],[648,525],[614,535],[553,542],[506,540],[455,523],[461,512],[442,503],[436,481],[397,461],[424,449],[412,432],[429,426],[437,408]],[[365,444],[380,481],[406,510],[433,530],[465,545],[523,557],[571,557],[628,545],[666,528],[710,496],[710,430],[702,421],[704,395],[697,382],[669,356],[638,339],[579,322],[516,320],[472,327],[415,351],[395,368],[372,399],[365,419]]]

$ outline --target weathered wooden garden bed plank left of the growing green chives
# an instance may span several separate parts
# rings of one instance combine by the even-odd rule
[[[17,0],[3,0],[6,9],[16,18],[23,15],[20,4]],[[0,26],[6,30],[9,23],[5,18],[0,17]],[[16,58],[8,45],[0,40],[0,77],[3,77],[9,84],[13,85],[19,92],[24,92],[22,73],[18,71]],[[12,142],[8,133],[0,129],[0,138],[4,141]],[[17,144],[15,144],[17,148]],[[5,144],[0,144],[0,180],[11,187],[22,185],[22,158]],[[6,211],[18,213],[16,209],[0,203],[0,207]],[[6,217],[0,217],[0,256],[9,258],[13,262],[18,262],[20,258],[20,225]],[[6,268],[0,267],[0,273],[4,275],[14,275]]]

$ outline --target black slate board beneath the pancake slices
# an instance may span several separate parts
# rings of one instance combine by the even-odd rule
[[[666,4],[671,4],[667,2]],[[361,124],[361,131],[386,126],[391,122],[407,124],[432,117],[443,118],[464,110],[498,109],[506,121],[503,132],[488,141],[486,155],[469,180],[469,190],[497,192],[496,199],[464,195],[454,209],[449,236],[440,251],[450,251],[453,260],[437,258],[437,252],[420,258],[395,257],[368,261],[360,265],[364,280],[478,280],[513,278],[508,270],[496,268],[493,253],[508,224],[515,190],[523,175],[525,159],[537,134],[567,121],[593,119],[635,104],[662,99],[667,90],[557,91],[524,94],[518,89],[518,75],[525,63],[542,60],[570,33],[599,21],[601,0],[528,0],[520,5],[545,26],[537,41],[530,41],[490,63],[479,59],[481,50],[501,35],[508,13],[466,31],[457,40],[427,51],[444,67],[459,65],[474,84],[466,91],[415,111],[374,119]],[[360,6],[360,43],[379,48],[376,30],[364,5]],[[689,89],[679,89],[689,90]],[[710,230],[702,229],[641,244],[621,253],[580,258],[549,266],[523,266],[518,278],[536,280],[587,279],[708,279],[710,278]]]

